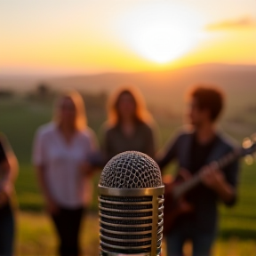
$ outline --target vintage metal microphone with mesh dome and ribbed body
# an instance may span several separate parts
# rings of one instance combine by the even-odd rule
[[[126,151],[105,165],[99,182],[100,255],[160,255],[164,184],[156,162]]]

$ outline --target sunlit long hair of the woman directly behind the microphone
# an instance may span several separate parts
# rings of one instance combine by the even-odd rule
[[[108,99],[108,121],[107,124],[115,126],[120,123],[120,116],[118,116],[118,102],[124,93],[132,96],[135,102],[135,119],[145,124],[152,122],[152,116],[149,114],[146,107],[145,100],[137,87],[126,85],[119,87]]]

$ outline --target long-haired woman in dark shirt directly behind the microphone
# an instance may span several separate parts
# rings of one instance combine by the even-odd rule
[[[108,161],[116,154],[136,150],[155,157],[152,117],[140,91],[121,87],[108,100],[108,121],[103,134],[102,151]]]

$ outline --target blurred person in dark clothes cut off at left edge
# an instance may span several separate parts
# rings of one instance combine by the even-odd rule
[[[13,190],[18,162],[7,139],[0,134],[0,255],[13,255],[15,232]]]

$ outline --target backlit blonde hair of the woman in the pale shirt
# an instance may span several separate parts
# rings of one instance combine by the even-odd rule
[[[78,131],[85,130],[87,128],[87,118],[86,118],[86,111],[85,111],[85,107],[84,107],[84,100],[83,100],[81,94],[79,92],[76,92],[75,90],[64,91],[60,94],[56,105],[58,105],[58,103],[60,103],[60,100],[63,100],[65,98],[72,100],[72,102],[75,105],[75,108],[76,108],[76,120],[75,120],[76,130],[78,130]],[[59,124],[60,119],[59,119],[59,116],[57,113],[58,111],[56,111],[56,108],[58,108],[58,107],[57,106],[55,107],[55,113],[53,116],[53,120],[54,120],[54,122]]]

